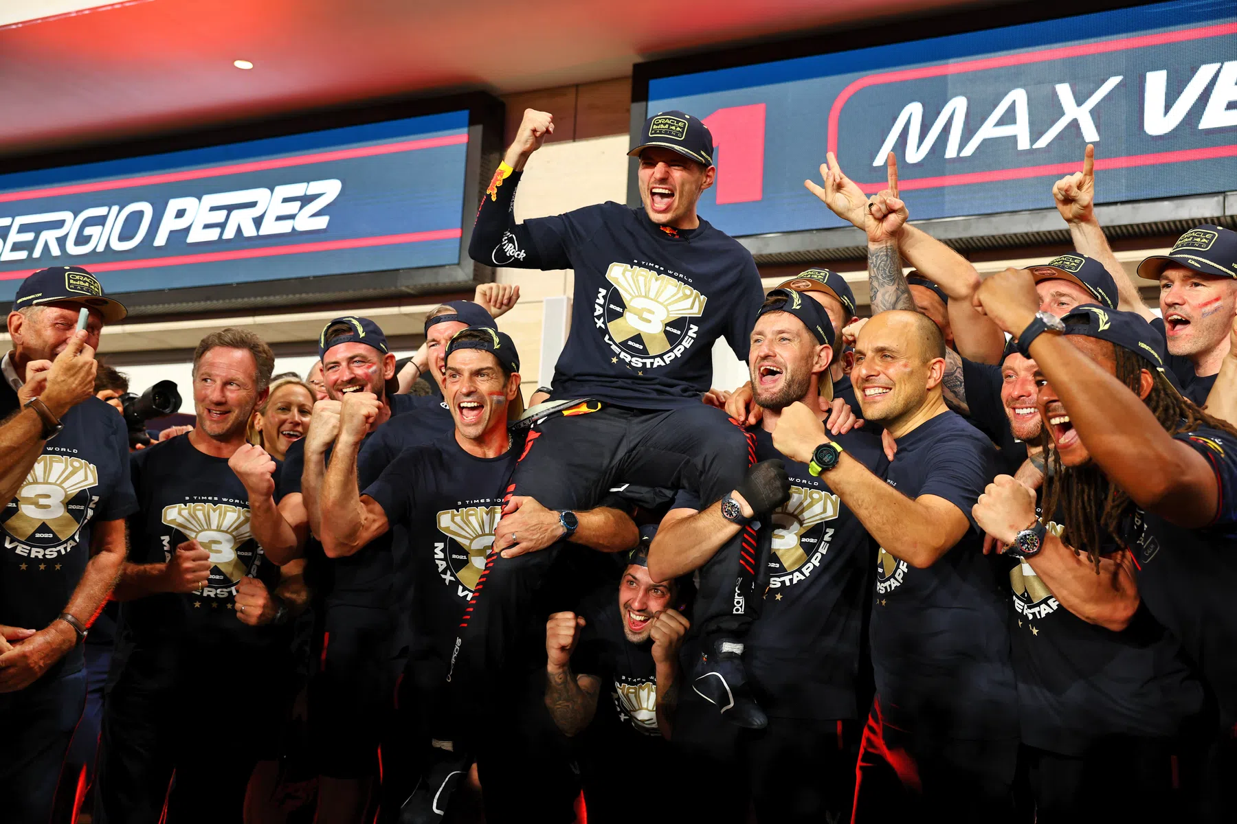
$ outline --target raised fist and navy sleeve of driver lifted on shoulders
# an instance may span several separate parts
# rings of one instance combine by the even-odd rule
[[[570,268],[565,250],[550,242],[550,233],[539,232],[536,241],[528,224],[516,222],[516,188],[524,163],[541,148],[547,135],[554,133],[554,116],[548,111],[524,109],[516,140],[494,172],[490,187],[481,195],[476,225],[468,253],[485,266],[510,266],[522,269]]]

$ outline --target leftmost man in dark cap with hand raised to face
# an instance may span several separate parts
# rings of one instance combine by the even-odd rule
[[[89,311],[83,331],[79,313]],[[90,398],[94,351],[125,308],[79,267],[17,288],[0,359],[0,780],[5,818],[46,822],[85,702],[82,641],[125,560],[136,509],[125,421]],[[11,499],[10,499],[11,498]]]

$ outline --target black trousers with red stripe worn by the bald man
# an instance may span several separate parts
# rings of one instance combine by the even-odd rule
[[[883,717],[877,698],[860,744],[851,824],[1018,820],[1017,763],[1017,739],[951,739],[902,729]]]

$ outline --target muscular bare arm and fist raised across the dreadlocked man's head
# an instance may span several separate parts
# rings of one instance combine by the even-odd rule
[[[1023,269],[992,275],[976,300],[1002,329],[1017,329],[1012,334],[1030,324],[1038,305],[1032,275]],[[1138,507],[1188,529],[1216,518],[1218,482],[1207,460],[1164,431],[1147,404],[1116,376],[1063,335],[1039,335],[1030,355],[1091,460]],[[1144,371],[1143,392],[1150,390],[1152,380]]]

